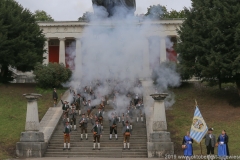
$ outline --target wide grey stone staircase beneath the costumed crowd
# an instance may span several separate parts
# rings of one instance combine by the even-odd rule
[[[77,131],[71,132],[71,149],[63,150],[63,124],[60,120],[52,138],[49,142],[45,157],[106,157],[106,158],[147,158],[147,133],[146,123],[136,122],[134,117],[132,136],[130,138],[130,150],[123,150],[122,123],[118,124],[118,140],[115,140],[113,134],[112,140],[109,140],[109,122],[106,117],[112,107],[105,106],[103,133],[100,139],[101,150],[92,150],[93,137],[90,132],[92,124],[88,123],[88,140],[80,140],[80,128],[77,125]],[[97,109],[93,110],[93,114]],[[77,122],[80,116],[77,117]],[[96,145],[97,147],[97,145]]]

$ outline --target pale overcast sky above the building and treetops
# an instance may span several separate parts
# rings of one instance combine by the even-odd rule
[[[86,11],[93,11],[91,0],[16,0],[32,12],[44,10],[56,21],[76,21]],[[161,4],[168,10],[190,7],[191,0],[136,0],[136,14],[145,14],[150,5]]]

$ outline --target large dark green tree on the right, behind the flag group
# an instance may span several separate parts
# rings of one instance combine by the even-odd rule
[[[183,78],[235,82],[240,95],[240,1],[192,0],[178,29]]]

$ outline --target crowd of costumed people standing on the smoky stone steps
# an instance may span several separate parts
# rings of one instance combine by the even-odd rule
[[[130,149],[130,136],[133,130],[133,121],[144,122],[144,105],[141,95],[141,85],[135,83],[133,87],[120,87],[120,82],[108,82],[108,94],[102,95],[101,84],[85,86],[83,88],[70,88],[70,99],[62,100],[63,126],[64,126],[64,150],[70,150],[70,133],[80,128],[80,140],[88,140],[88,125],[91,124],[93,134],[93,150],[100,150],[100,139],[103,131],[103,118],[109,121],[109,140],[118,140],[118,124],[122,125],[123,149]],[[113,85],[115,84],[115,85]],[[106,84],[104,84],[106,87]],[[131,90],[131,91],[130,91]],[[57,102],[56,89],[53,92],[54,106]],[[119,100],[119,97],[120,100]],[[119,102],[122,101],[122,102]],[[106,105],[110,105],[112,110],[105,112]],[[105,116],[104,116],[105,115]],[[77,117],[80,116],[78,122]],[[134,119],[136,118],[136,119]],[[85,134],[85,136],[84,136]]]

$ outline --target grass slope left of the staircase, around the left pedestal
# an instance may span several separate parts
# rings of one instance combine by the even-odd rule
[[[57,90],[59,97],[65,90]],[[24,131],[27,110],[24,93],[42,94],[38,101],[40,120],[53,106],[52,90],[37,89],[35,84],[0,84],[0,159],[14,157],[16,142]]]

